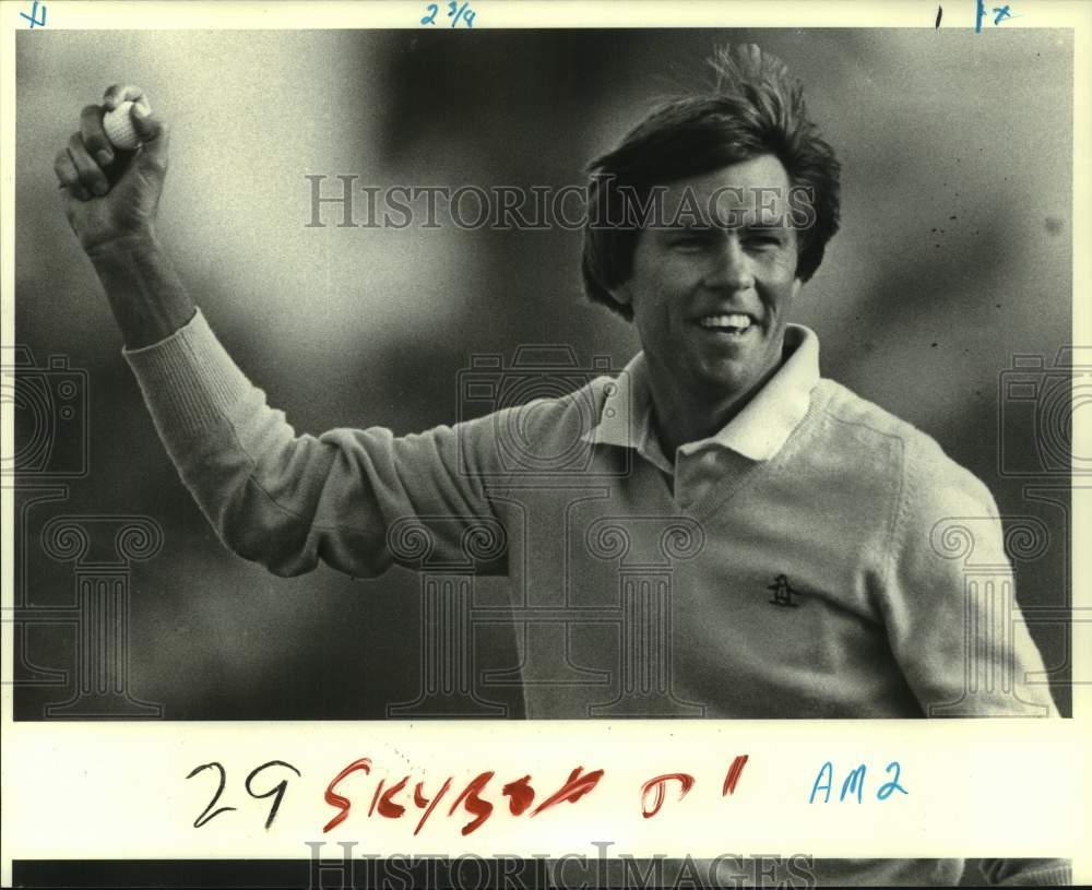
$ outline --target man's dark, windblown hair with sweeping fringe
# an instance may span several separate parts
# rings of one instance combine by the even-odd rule
[[[709,60],[715,85],[705,94],[668,102],[631,130],[613,152],[587,166],[587,214],[582,273],[590,299],[627,319],[629,306],[610,288],[632,273],[641,223],[632,213],[618,224],[609,207],[648,207],[654,186],[717,170],[763,154],[788,174],[809,225],[797,230],[796,276],[808,281],[839,225],[839,163],[807,115],[804,88],[785,64],[753,45],[724,46]]]

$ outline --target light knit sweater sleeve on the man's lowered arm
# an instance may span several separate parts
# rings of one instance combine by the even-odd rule
[[[930,439],[906,442],[889,560],[888,637],[926,716],[1057,716],[994,499]]]

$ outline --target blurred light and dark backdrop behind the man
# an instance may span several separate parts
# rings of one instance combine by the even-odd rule
[[[1068,476],[1058,454],[1069,377],[1053,368],[1070,341],[1068,32],[454,37],[17,35],[20,360],[48,368],[61,356],[87,372],[86,411],[67,418],[78,431],[57,442],[57,474],[20,480],[24,604],[73,602],[72,565],[40,546],[48,521],[147,515],[164,546],[132,565],[129,688],[165,717],[373,719],[419,688],[415,575],[361,582],[321,568],[282,580],[244,562],[216,541],[159,446],[52,173],[81,107],[107,85],[140,84],[171,124],[162,239],[271,403],[299,431],[408,432],[454,419],[456,375],[476,353],[560,343],[582,363],[608,355],[619,367],[636,339],[584,299],[579,233],[337,228],[332,206],[327,227],[308,228],[306,176],[330,177],[328,194],[340,174],[380,187],[579,185],[589,159],[658,98],[708,80],[714,45],[755,41],[807,85],[843,165],[842,230],[795,319],[818,331],[824,376],[934,436],[986,482],[1002,515],[1037,520],[1047,538],[1017,563],[1020,602],[1067,605]],[[1016,356],[1025,358],[1011,389]],[[1051,393],[1064,397],[1047,404]],[[35,435],[32,420],[16,411],[17,447]],[[75,472],[81,429],[85,473]],[[1044,453],[1047,440],[1061,444]],[[57,485],[67,487],[50,495]],[[480,590],[503,595],[502,582]],[[1057,622],[1031,630],[1068,714],[1068,633]],[[71,697],[56,672],[72,669],[74,641],[70,625],[24,629],[16,719],[40,720]],[[477,658],[479,669],[511,665],[511,641],[496,634]],[[512,690],[490,697],[520,714]]]

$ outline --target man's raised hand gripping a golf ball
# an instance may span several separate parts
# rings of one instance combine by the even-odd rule
[[[143,143],[135,152],[114,147],[103,129],[103,115],[122,102]],[[72,230],[88,254],[123,245],[134,237],[154,239],[154,224],[167,175],[167,126],[152,114],[139,86],[111,86],[103,105],[80,115],[80,132],[57,153],[54,171],[63,189]]]

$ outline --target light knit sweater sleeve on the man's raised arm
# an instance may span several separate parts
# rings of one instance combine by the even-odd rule
[[[321,559],[375,577],[425,555],[465,562],[467,534],[503,541],[477,472],[487,419],[405,437],[379,427],[297,436],[200,310],[170,337],[124,355],[219,538],[276,574]]]

